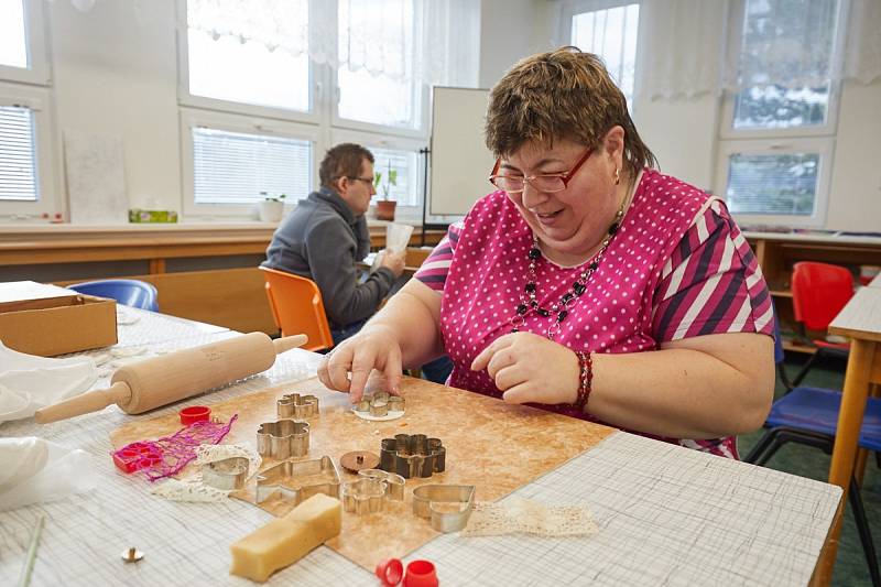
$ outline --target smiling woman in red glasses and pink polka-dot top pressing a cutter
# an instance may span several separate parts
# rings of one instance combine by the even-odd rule
[[[446,352],[448,384],[737,458],[774,384],[773,320],[725,204],[662,175],[598,57],[566,47],[492,89],[497,188],[361,334],[325,359],[357,401],[371,369]]]

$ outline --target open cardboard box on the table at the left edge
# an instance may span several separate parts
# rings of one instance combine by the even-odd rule
[[[52,357],[117,343],[117,303],[29,281],[0,283],[0,340]]]

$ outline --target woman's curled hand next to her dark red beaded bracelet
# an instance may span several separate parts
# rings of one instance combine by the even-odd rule
[[[471,362],[472,371],[482,369],[510,403],[573,403],[578,398],[578,357],[532,333],[497,338]]]

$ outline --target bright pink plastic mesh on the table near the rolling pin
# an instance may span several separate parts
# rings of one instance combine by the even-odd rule
[[[235,414],[226,424],[210,421],[194,422],[172,436],[131,443],[112,454],[115,458],[127,458],[131,455],[132,448],[140,448],[142,453],[159,455],[161,458],[143,458],[131,467],[133,470],[141,470],[151,481],[157,481],[186,467],[196,458],[197,446],[220,443],[238,417],[239,414]]]

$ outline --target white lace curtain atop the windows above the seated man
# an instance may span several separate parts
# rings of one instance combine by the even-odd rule
[[[469,0],[188,0],[187,22],[373,76],[477,84],[480,3]]]

